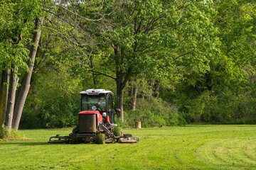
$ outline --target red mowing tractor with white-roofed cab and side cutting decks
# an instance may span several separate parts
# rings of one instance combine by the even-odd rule
[[[113,107],[113,93],[105,89],[81,91],[81,112],[78,113],[78,125],[68,136],[50,137],[49,143],[86,143],[105,142],[134,143],[139,137],[122,133],[114,124],[114,114],[120,109]],[[58,140],[52,140],[56,138]]]

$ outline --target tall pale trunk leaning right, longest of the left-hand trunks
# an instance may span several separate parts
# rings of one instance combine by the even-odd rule
[[[28,61],[28,67],[29,67],[29,72],[26,72],[22,82],[21,82],[21,88],[18,91],[18,96],[16,99],[16,105],[15,105],[15,111],[14,111],[14,125],[13,128],[14,130],[18,130],[18,125],[21,120],[21,114],[23,111],[23,106],[26,101],[26,97],[28,96],[28,91],[31,86],[31,76],[33,72],[33,66],[36,58],[36,52],[38,49],[38,43],[41,37],[41,27],[43,25],[44,18],[36,18],[35,22],[35,33],[33,33],[33,42],[31,45],[30,49],[30,61]]]

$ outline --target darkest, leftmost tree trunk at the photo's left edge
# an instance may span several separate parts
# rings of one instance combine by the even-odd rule
[[[0,86],[0,125],[4,123],[8,101],[10,69],[2,70]]]

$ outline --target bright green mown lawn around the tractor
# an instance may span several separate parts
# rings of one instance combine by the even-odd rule
[[[48,144],[69,130],[21,130],[0,142],[0,169],[256,169],[256,125],[124,130],[135,144]]]

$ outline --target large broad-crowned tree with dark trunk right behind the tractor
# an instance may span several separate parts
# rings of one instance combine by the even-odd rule
[[[108,1],[104,8],[110,22],[102,40],[108,43],[107,63],[117,86],[117,107],[123,115],[123,92],[132,74],[145,71],[166,75],[174,64],[206,69],[206,52],[213,49],[203,1]],[[197,46],[196,46],[197,45]],[[207,47],[208,46],[208,47]],[[207,47],[207,48],[206,48]],[[107,60],[106,60],[107,58]],[[196,64],[192,66],[193,64]],[[102,73],[103,74],[103,73]]]

